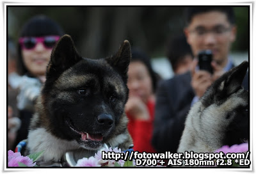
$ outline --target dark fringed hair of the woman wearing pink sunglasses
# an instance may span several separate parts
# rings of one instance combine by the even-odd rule
[[[24,26],[22,26],[22,29],[20,31],[20,37],[47,35],[62,36],[64,34],[65,33],[61,26],[45,15],[36,15],[35,17],[32,17],[31,19],[28,20],[28,22],[24,24]],[[28,73],[28,69],[25,67],[22,59],[20,44],[18,44],[17,52],[17,72],[20,75],[24,75]]]

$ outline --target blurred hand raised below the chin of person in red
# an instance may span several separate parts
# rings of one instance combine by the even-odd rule
[[[129,113],[135,120],[150,119],[147,106],[139,97],[129,97],[125,105],[125,112]]]

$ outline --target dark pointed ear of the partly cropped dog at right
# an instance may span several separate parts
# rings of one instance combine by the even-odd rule
[[[236,92],[241,88],[247,68],[248,61],[243,61],[239,66],[232,68],[232,70],[224,74],[222,78],[220,77],[218,90],[225,91],[227,95]]]

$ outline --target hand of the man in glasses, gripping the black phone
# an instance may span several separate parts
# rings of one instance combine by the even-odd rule
[[[202,97],[212,84],[212,75],[205,70],[196,71],[196,65],[198,64],[198,60],[194,60],[191,66],[191,86],[195,92],[197,97]]]

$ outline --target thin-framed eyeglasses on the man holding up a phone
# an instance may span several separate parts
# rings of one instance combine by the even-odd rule
[[[191,30],[191,33],[194,33],[196,36],[205,36],[207,33],[212,33],[215,36],[221,36],[231,30],[231,27],[226,28],[225,26],[216,26],[212,29],[205,29],[203,27],[198,27]]]

